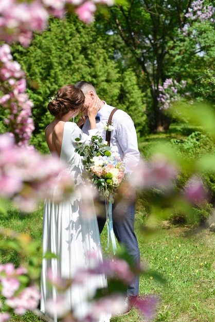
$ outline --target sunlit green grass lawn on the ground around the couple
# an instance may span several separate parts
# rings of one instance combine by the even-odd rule
[[[25,232],[37,240],[42,237],[42,206],[27,216],[9,211],[1,214],[1,225]],[[135,229],[138,237],[141,263],[161,274],[162,284],[151,276],[140,277],[140,295],[156,294],[159,305],[154,322],[214,322],[215,321],[215,234],[207,229],[196,230],[189,226],[173,226],[168,221],[159,222],[152,235],[143,229],[145,216],[138,204]],[[106,229],[101,234],[104,256],[111,254],[106,247]],[[11,254],[10,254],[11,255]],[[12,259],[12,257],[8,257]],[[14,258],[13,258],[14,259]],[[33,313],[13,316],[11,321],[41,321]],[[142,321],[136,309],[112,322]]]

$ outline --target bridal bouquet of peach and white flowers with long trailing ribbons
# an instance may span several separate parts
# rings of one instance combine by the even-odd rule
[[[113,251],[116,252],[116,242],[113,232],[112,205],[114,192],[121,184],[124,177],[124,167],[119,155],[111,152],[108,142],[102,142],[102,137],[94,135],[90,145],[84,145],[76,138],[76,152],[83,156],[83,165],[86,170],[87,180],[94,184],[100,195],[104,196],[106,203],[106,223],[109,236],[111,235]]]

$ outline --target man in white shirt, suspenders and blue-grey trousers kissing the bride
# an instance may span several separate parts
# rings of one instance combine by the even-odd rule
[[[86,115],[87,106],[92,104],[95,97],[98,97],[94,86],[86,81],[79,81],[75,84],[80,88],[85,96],[83,114]],[[106,126],[113,106],[101,101],[102,107],[99,110],[96,120],[97,129],[103,140],[106,137]],[[137,135],[134,127],[134,122],[131,117],[122,110],[117,110],[112,118],[114,130],[111,132],[111,151],[118,152],[121,160],[125,165],[125,174],[131,174],[132,168],[136,167],[139,162],[139,150],[137,145]],[[88,133],[89,121],[85,120],[82,131]],[[114,205],[115,206],[115,205]],[[135,217],[135,192],[131,191],[130,197],[128,195],[114,207],[113,210],[113,228],[115,236],[119,243],[121,243],[127,252],[131,255],[133,263],[139,266],[140,253],[137,238],[134,232],[134,217]],[[99,231],[101,233],[105,218],[98,217]],[[136,275],[133,281],[127,287],[127,293],[124,301],[125,312],[128,313],[139,293],[139,276]]]

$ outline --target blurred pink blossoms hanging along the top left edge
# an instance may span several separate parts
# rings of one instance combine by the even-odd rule
[[[3,0],[0,3],[0,38],[8,44],[20,42],[28,46],[33,31],[47,28],[49,15],[63,17],[66,7],[74,9],[85,23],[93,21],[96,4],[113,5],[113,0],[37,0],[20,2]]]

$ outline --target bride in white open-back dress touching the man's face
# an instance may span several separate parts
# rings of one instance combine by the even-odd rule
[[[64,306],[73,312],[78,321],[83,321],[91,308],[88,301],[98,288],[106,288],[107,282],[103,274],[89,276],[82,284],[71,284],[61,294],[57,287],[49,285],[48,275],[53,279],[73,279],[78,270],[91,268],[95,263],[102,262],[100,236],[96,213],[91,199],[93,216],[86,218],[82,207],[81,186],[83,186],[82,157],[75,152],[76,141],[79,137],[87,141],[97,133],[96,120],[101,101],[95,100],[88,106],[88,119],[91,124],[87,136],[83,134],[76,123],[69,121],[82,110],[84,94],[74,85],[61,87],[55,98],[48,104],[48,110],[54,116],[46,127],[45,137],[51,154],[57,154],[66,162],[69,176],[72,174],[76,182],[76,192],[60,203],[55,202],[55,189],[52,200],[46,199],[43,214],[43,254],[51,252],[57,258],[43,259],[41,273],[41,312],[51,316],[55,322],[62,316],[57,310],[58,298],[62,295]],[[57,193],[57,192],[56,192]],[[87,190],[87,200],[89,199]],[[93,208],[92,208],[93,207]],[[89,254],[94,252],[94,257]],[[96,257],[95,257],[96,254]],[[54,305],[50,308],[50,300]],[[51,312],[50,312],[51,311]],[[109,322],[110,314],[101,314],[98,322]]]

